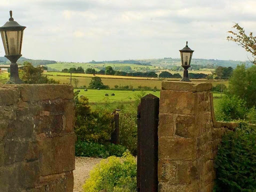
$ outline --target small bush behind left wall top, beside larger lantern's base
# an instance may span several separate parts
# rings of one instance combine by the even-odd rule
[[[47,78],[43,75],[43,69],[41,67],[34,67],[30,62],[25,61],[24,67],[20,70],[20,78],[28,84],[43,84],[54,83],[58,84],[59,81],[53,78]]]

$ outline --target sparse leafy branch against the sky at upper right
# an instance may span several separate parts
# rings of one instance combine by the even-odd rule
[[[243,27],[238,23],[235,23],[233,27],[236,31],[228,31],[232,36],[227,36],[227,40],[236,42],[238,45],[245,48],[245,50],[252,55],[252,59],[249,59],[253,64],[256,64],[256,36],[253,36],[252,32],[246,34]]]

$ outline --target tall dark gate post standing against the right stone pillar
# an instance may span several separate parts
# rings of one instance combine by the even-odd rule
[[[137,191],[157,192],[159,98],[145,95],[138,109]]]

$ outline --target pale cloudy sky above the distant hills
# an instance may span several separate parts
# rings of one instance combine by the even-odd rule
[[[255,0],[0,0],[0,25],[12,10],[27,27],[21,53],[33,59],[178,58],[187,40],[194,58],[247,60],[226,31],[238,22],[256,34],[255,8]]]

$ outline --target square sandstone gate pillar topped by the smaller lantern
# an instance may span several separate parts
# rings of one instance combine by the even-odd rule
[[[210,83],[163,81],[158,125],[158,191],[212,191]]]

